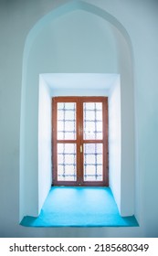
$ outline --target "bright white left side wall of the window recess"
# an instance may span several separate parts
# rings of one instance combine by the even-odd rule
[[[38,213],[52,183],[51,173],[51,97],[47,83],[39,76],[38,106]]]

